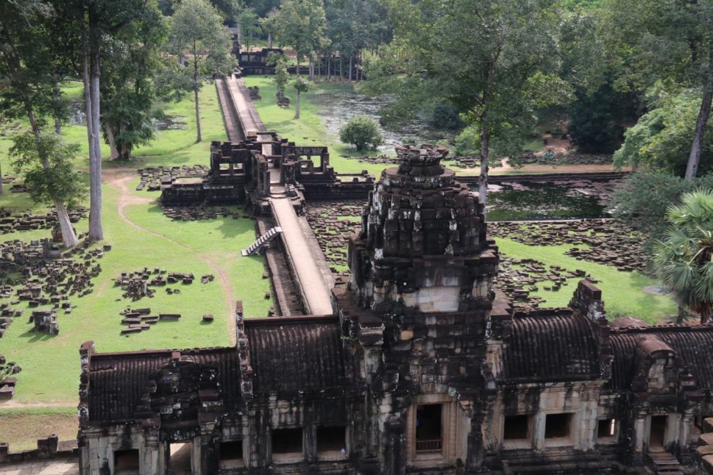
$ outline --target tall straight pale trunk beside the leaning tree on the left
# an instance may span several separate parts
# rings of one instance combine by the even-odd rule
[[[96,40],[98,41],[98,39]],[[94,155],[89,158],[89,240],[104,239],[101,223],[101,142],[99,126],[99,47],[96,44],[91,55],[91,121]]]

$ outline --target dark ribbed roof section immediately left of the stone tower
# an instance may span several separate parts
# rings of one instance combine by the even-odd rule
[[[353,386],[337,317],[245,320],[255,392]]]

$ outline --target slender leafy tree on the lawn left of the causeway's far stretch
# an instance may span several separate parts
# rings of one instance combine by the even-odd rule
[[[201,74],[225,74],[235,66],[230,55],[232,39],[222,24],[220,13],[205,0],[183,0],[171,17],[170,47],[173,53],[187,56],[193,63],[190,72],[195,100],[196,142],[200,142],[200,111],[198,92]]]

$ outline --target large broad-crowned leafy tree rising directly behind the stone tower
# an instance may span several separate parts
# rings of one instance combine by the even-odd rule
[[[441,99],[478,128],[486,203],[491,146],[521,150],[535,111],[570,98],[559,76],[558,11],[549,0],[390,0],[395,40],[365,55],[362,90],[393,93],[391,117],[413,118]],[[525,21],[526,19],[526,21]],[[513,155],[514,153],[508,153]]]

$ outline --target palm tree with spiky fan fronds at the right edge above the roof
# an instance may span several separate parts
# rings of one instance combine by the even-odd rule
[[[685,193],[666,213],[670,223],[656,243],[654,263],[680,307],[701,316],[713,314],[713,191]]]

